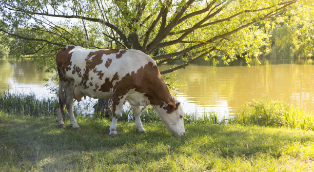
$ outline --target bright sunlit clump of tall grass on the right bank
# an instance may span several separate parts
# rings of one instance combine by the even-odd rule
[[[232,123],[314,130],[314,114],[281,101],[253,100],[243,105]]]

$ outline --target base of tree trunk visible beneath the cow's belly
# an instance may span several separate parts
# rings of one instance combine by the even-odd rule
[[[99,99],[93,108],[94,117],[109,118],[112,115],[112,98]]]

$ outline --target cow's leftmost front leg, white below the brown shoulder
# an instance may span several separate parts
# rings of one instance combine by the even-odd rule
[[[113,117],[112,117],[111,125],[109,128],[109,130],[110,130],[109,136],[110,137],[117,136],[116,123],[117,123],[117,120],[121,116],[124,101],[125,101],[125,99],[123,99],[123,98],[120,100],[113,98],[113,103],[112,103],[112,109],[113,109],[112,116]]]

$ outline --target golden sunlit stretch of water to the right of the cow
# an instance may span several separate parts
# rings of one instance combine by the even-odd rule
[[[207,62],[208,63],[208,62]],[[252,99],[274,99],[314,110],[314,68],[312,61],[261,60],[247,67],[245,62],[233,66],[210,68],[196,64],[178,71],[181,84],[178,99],[186,111],[215,111],[224,116],[234,113]],[[310,64],[310,65],[308,65]],[[160,67],[160,70],[172,65]]]

